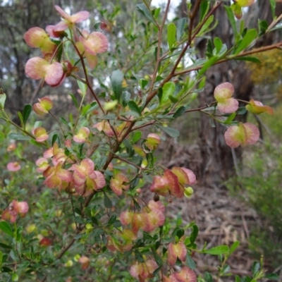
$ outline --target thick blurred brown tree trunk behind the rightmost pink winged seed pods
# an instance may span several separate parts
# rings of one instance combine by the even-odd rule
[[[277,4],[276,14],[281,13],[282,4]],[[216,29],[211,32],[211,37],[219,37],[227,45],[232,46],[233,34],[224,8],[221,6],[217,11],[215,18],[219,21]],[[257,27],[257,19],[267,20],[271,23],[271,8],[269,1],[258,1],[257,5],[249,8],[245,15],[246,26]],[[274,43],[273,32],[267,35],[257,43],[256,47]],[[206,40],[198,44],[200,56],[204,57]],[[204,92],[200,94],[200,106],[214,101],[214,88],[222,82],[231,82],[235,88],[235,98],[249,101],[252,95],[253,84],[250,79],[250,71],[245,68],[244,62],[228,61],[210,68],[207,73],[207,82]],[[243,104],[241,105],[243,106]],[[241,121],[245,122],[247,116],[243,116]],[[238,172],[242,157],[242,147],[231,149],[224,141],[226,128],[218,123],[215,127],[211,126],[208,116],[202,114],[200,117],[200,151],[202,161],[200,164],[200,180],[204,183],[221,183],[231,176],[235,171]]]

